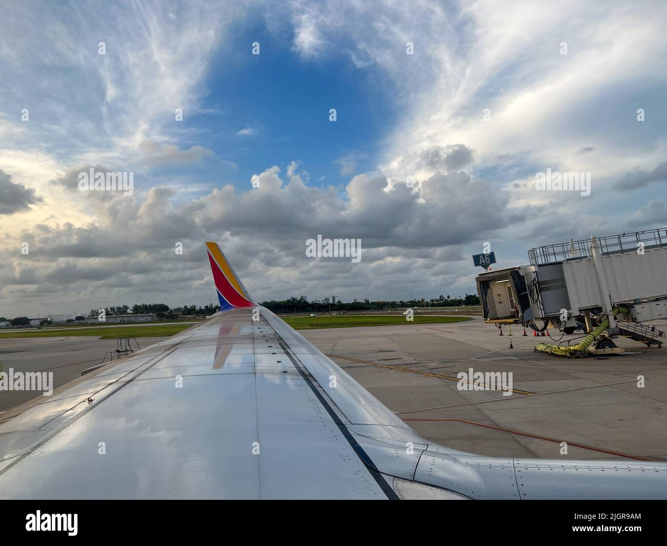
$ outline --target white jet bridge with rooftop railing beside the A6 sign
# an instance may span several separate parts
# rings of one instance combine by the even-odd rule
[[[535,247],[528,257],[530,265],[477,277],[487,323],[572,333],[607,321],[609,338],[626,335],[649,346],[665,341],[663,332],[642,323],[667,318],[667,228],[572,239]]]

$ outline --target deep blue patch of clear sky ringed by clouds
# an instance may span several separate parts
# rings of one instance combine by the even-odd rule
[[[255,41],[260,54],[247,55]],[[215,59],[203,82],[207,94],[201,108],[215,113],[186,123],[205,131],[197,143],[238,166],[231,180],[245,185],[257,165],[280,165],[285,157],[301,161],[313,185],[347,183],[350,177],[334,163],[346,155],[359,158],[360,172],[377,164],[383,135],[396,123],[390,93],[370,85],[370,79],[385,79],[382,73],[354,69],[338,57],[303,61],[289,41],[281,43],[258,26],[241,33],[235,47]],[[337,110],[335,123],[329,121],[331,108]],[[239,135],[243,129],[249,134]]]

